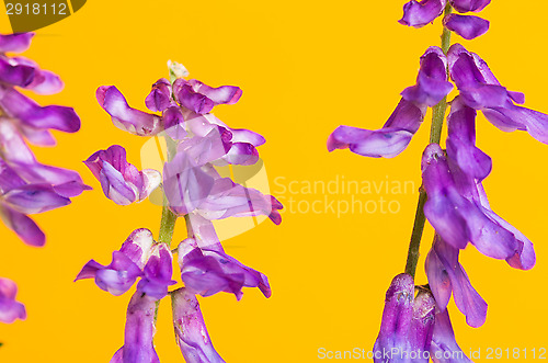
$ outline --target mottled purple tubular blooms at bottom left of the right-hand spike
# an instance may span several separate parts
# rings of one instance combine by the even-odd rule
[[[386,293],[380,332],[373,348],[375,363],[429,362],[435,302],[421,291],[414,297],[409,274],[393,277]],[[388,354],[388,355],[387,355]]]

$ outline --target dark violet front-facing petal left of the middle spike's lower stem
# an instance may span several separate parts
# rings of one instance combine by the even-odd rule
[[[172,260],[173,257],[165,243],[155,245],[145,265],[145,276],[137,284],[137,291],[156,299],[165,297],[168,287],[176,284],[176,281],[171,280]]]

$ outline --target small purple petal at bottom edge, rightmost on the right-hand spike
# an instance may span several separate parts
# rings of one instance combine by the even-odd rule
[[[430,355],[434,363],[471,363],[455,341],[455,333],[445,309],[436,314],[434,334],[430,345]]]

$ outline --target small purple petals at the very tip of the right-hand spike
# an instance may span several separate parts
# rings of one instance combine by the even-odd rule
[[[421,27],[433,22],[442,15],[444,9],[455,9],[459,13],[480,12],[491,0],[411,0],[403,5],[403,18],[400,24]],[[483,35],[489,30],[489,21],[475,15],[460,15],[446,13],[443,19],[444,25],[452,32],[457,33],[465,39],[473,39]]]

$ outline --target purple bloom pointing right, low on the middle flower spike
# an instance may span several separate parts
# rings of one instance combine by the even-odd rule
[[[266,276],[250,269],[222,251],[198,248],[197,242],[185,239],[178,248],[181,279],[185,286],[202,296],[218,292],[235,294],[240,299],[242,287],[259,287],[271,296]]]

